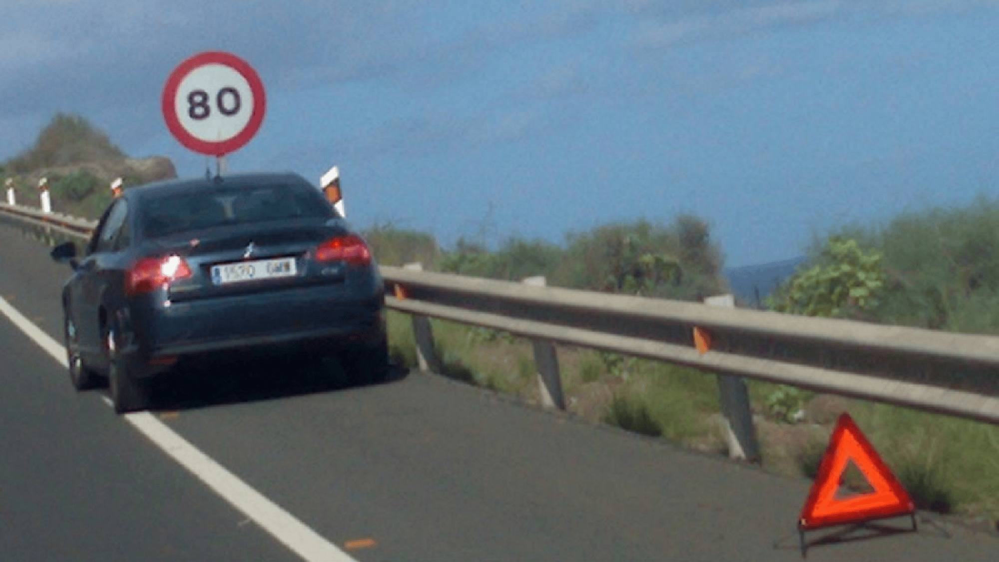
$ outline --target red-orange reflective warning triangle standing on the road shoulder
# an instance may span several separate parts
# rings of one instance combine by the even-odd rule
[[[840,479],[850,461],[863,473],[873,492],[845,498],[837,496]],[[860,432],[853,418],[849,414],[841,414],[822,456],[815,483],[801,510],[798,527],[808,530],[861,523],[915,511],[909,493]]]

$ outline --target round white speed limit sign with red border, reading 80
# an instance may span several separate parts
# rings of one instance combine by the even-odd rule
[[[182,62],[167,79],[161,100],[174,137],[195,152],[218,157],[250,142],[266,105],[264,84],[253,67],[220,51]]]

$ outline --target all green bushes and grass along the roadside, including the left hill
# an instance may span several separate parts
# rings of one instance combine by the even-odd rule
[[[18,200],[37,201],[49,178],[56,210],[96,218],[108,183],[126,187],[172,177],[173,167],[129,159],[83,118],[58,114],[36,144],[0,166]],[[169,164],[169,161],[167,161]],[[484,229],[485,230],[485,229]],[[693,215],[634,220],[571,232],[560,244],[482,236],[441,248],[433,235],[377,224],[365,232],[383,265],[550,286],[700,301],[727,291],[709,225]],[[788,314],[848,318],[936,330],[999,334],[999,201],[906,211],[880,225],[816,237],[809,259],[767,299]],[[393,360],[415,366],[408,315],[391,311]],[[537,402],[530,343],[483,328],[432,320],[443,374]],[[715,377],[694,369],[571,346],[558,347],[570,412],[593,422],[725,452]],[[849,411],[920,508],[999,517],[999,428],[909,409],[749,381],[763,464],[812,477],[836,415]]]

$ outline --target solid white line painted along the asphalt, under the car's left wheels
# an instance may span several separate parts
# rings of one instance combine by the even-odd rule
[[[0,297],[0,312],[66,367],[66,349]],[[122,416],[181,466],[265,531],[309,562],[357,562],[291,513],[250,487],[149,412]]]

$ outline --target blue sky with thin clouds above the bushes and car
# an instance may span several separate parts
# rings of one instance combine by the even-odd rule
[[[0,159],[56,111],[206,159],[159,109],[206,50],[268,93],[233,171],[341,168],[349,218],[496,243],[709,221],[727,266],[992,195],[997,0],[4,0]]]

